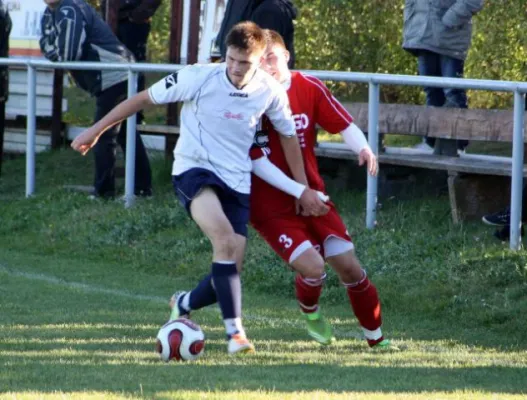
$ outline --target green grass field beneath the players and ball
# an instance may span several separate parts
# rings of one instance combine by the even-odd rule
[[[176,203],[154,158],[155,197],[125,210],[64,184],[89,184],[91,157],[24,159],[0,178],[1,399],[524,399],[527,253],[480,223],[452,225],[446,197],[388,202],[364,228],[365,195],[330,188],[402,349],[375,353],[334,274],[322,299],[338,341],[309,341],[293,275],[254,232],[245,325],[255,355],[231,358],[218,310],[195,313],[207,336],[195,363],[161,362],[154,338],[167,299],[206,273],[210,247]]]

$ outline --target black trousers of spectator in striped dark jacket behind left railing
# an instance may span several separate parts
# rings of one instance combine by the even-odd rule
[[[117,104],[127,97],[128,81],[114,85],[96,97],[95,122],[102,119]],[[138,116],[138,123],[140,117]],[[115,154],[117,144],[126,152],[126,122],[108,129],[100,138],[93,154],[95,156],[95,195],[115,196]],[[145,146],[139,134],[135,137],[135,194],[152,193],[152,172]]]

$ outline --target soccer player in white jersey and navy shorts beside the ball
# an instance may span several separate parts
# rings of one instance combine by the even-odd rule
[[[86,154],[112,125],[152,104],[182,101],[181,135],[172,169],[175,192],[213,248],[211,274],[188,293],[174,295],[171,318],[213,302],[220,304],[230,354],[254,351],[241,321],[241,268],[249,220],[252,162],[249,150],[265,114],[277,131],[293,178],[289,187],[312,215],[328,207],[307,187],[302,154],[287,94],[258,67],[266,40],[252,22],[235,25],[222,64],[191,65],[124,101],[71,144]],[[266,179],[269,170],[262,174]],[[260,171],[262,172],[262,171]],[[272,175],[272,174],[271,174]],[[283,181],[280,181],[283,184]],[[280,187],[280,184],[277,184]],[[307,187],[307,189],[306,189]]]

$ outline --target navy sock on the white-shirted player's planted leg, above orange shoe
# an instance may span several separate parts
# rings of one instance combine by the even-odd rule
[[[212,279],[223,319],[242,316],[242,290],[236,264],[212,263]]]

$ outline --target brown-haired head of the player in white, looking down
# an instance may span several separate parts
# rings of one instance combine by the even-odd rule
[[[241,87],[249,82],[263,61],[264,32],[254,22],[240,22],[229,31],[225,44],[227,74],[235,86]]]

